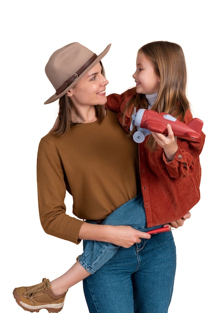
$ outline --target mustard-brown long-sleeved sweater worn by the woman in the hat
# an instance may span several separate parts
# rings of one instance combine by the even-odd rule
[[[107,110],[102,123],[83,123],[64,136],[43,137],[37,159],[40,220],[54,236],[79,243],[83,219],[103,219],[140,191],[138,144]],[[66,189],[73,196],[66,213]]]

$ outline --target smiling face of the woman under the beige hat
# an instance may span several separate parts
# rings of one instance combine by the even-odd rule
[[[67,92],[77,108],[83,105],[103,105],[107,102],[105,89],[109,81],[101,70],[102,66],[97,63]]]

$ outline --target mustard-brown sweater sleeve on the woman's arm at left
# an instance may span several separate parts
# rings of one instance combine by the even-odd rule
[[[84,221],[66,214],[62,162],[56,149],[43,138],[38,150],[37,184],[40,220],[45,232],[78,244]]]

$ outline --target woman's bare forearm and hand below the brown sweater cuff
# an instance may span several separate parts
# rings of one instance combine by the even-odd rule
[[[124,248],[141,242],[141,238],[150,237],[149,233],[128,225],[98,225],[87,222],[83,223],[79,232],[79,239],[111,242]]]

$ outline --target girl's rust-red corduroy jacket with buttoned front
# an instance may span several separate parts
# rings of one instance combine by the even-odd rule
[[[127,90],[122,94],[108,95],[107,108],[118,112],[122,124],[121,112],[130,97],[135,93]],[[190,110],[186,111],[184,122],[192,119]],[[130,126],[130,116],[125,118],[125,129]],[[200,199],[199,185],[201,153],[205,135],[199,139],[177,138],[178,150],[174,159],[166,160],[164,150],[149,151],[145,142],[139,143],[139,168],[141,190],[146,212],[147,227],[168,223],[180,219]]]

